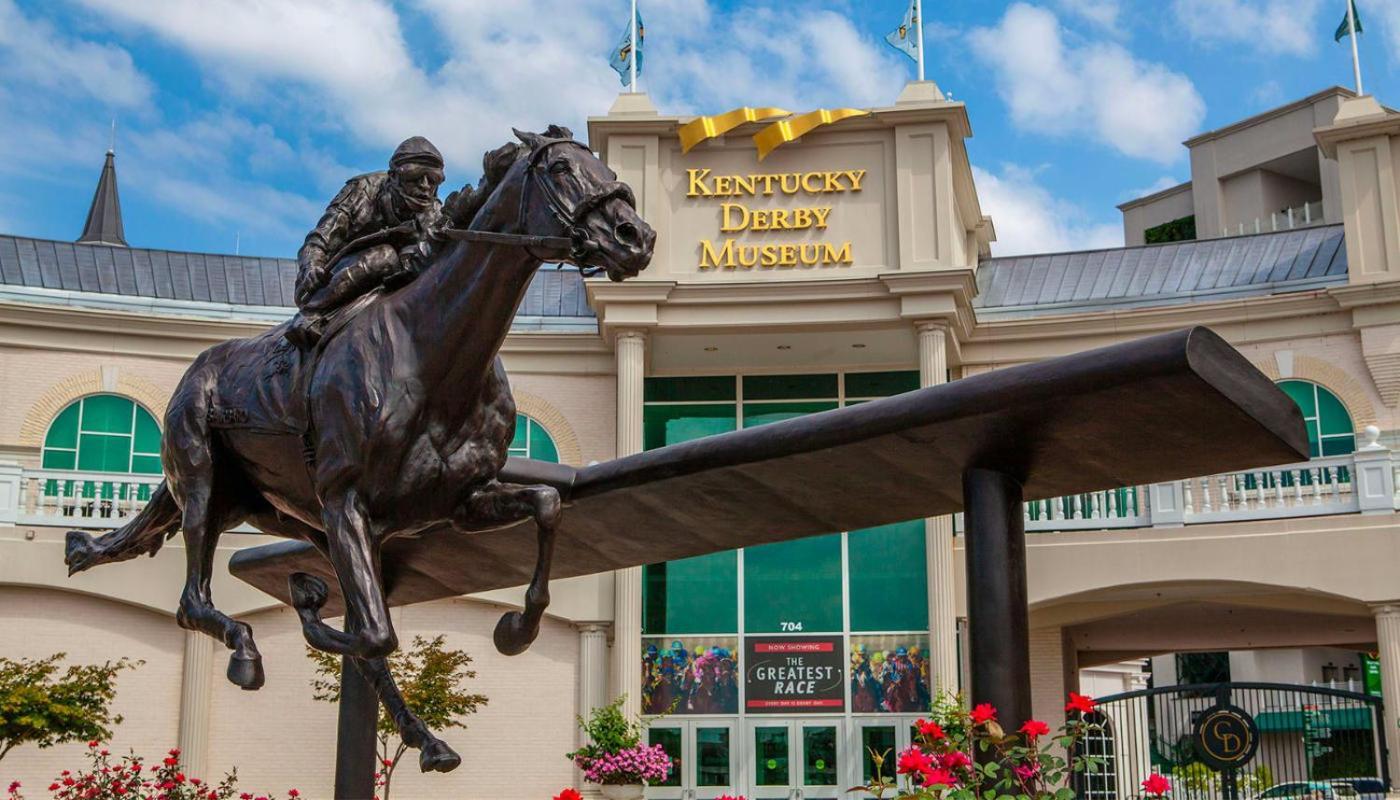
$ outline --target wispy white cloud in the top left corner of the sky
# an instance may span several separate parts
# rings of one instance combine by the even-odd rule
[[[115,45],[60,35],[42,20],[0,0],[0,83],[22,81],[63,95],[87,95],[113,108],[144,106],[151,81]]]

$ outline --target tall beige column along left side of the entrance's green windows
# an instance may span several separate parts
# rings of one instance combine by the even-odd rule
[[[647,371],[644,331],[617,333],[617,457],[641,453],[641,392]],[[641,713],[641,567],[613,573],[613,696],[623,713]]]

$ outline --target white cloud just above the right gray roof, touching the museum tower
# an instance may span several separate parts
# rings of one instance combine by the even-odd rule
[[[1056,198],[1033,171],[1016,164],[1002,164],[1000,174],[980,167],[972,171],[981,209],[997,228],[993,255],[1123,247],[1121,224],[1095,220]]]

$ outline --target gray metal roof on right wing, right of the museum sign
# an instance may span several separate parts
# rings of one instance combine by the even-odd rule
[[[973,305],[987,314],[1067,314],[1205,303],[1347,282],[1343,226],[1162,245],[988,258]]]

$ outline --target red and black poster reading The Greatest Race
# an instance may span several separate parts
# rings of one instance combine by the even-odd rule
[[[749,713],[839,713],[846,709],[840,636],[749,636],[743,640]]]

